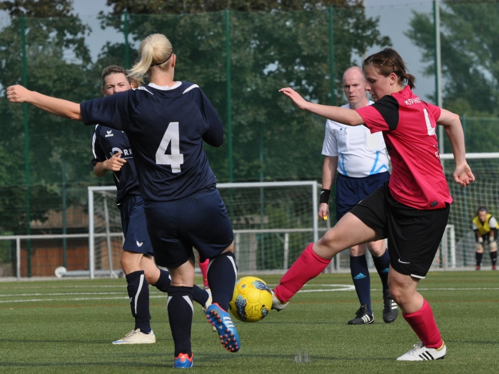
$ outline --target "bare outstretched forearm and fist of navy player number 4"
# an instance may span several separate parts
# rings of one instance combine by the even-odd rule
[[[7,87],[7,99],[10,102],[27,102],[62,118],[82,120],[80,104],[42,95],[18,84]]]

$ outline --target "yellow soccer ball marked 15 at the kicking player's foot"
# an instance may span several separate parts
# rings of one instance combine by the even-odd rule
[[[272,294],[265,282],[256,277],[238,279],[234,295],[229,303],[231,313],[243,322],[257,322],[272,307]]]

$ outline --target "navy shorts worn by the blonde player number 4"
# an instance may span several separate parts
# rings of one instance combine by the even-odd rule
[[[173,201],[144,202],[156,264],[177,268],[193,247],[201,262],[220,255],[234,241],[231,221],[216,188]]]

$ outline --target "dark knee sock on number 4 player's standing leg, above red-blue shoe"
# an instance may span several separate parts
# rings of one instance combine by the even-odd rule
[[[175,357],[181,353],[192,355],[191,325],[194,307],[192,287],[170,287],[168,291],[168,319],[175,344]]]

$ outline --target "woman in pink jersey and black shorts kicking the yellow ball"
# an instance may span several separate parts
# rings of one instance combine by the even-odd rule
[[[426,277],[449,217],[452,197],[442,172],[435,129],[444,126],[454,153],[454,180],[465,187],[475,177],[465,159],[457,114],[422,101],[415,78],[391,48],[364,60],[366,90],[375,103],[357,110],[307,102],[291,88],[286,96],[303,110],[351,126],[382,131],[392,162],[390,182],[356,205],[317,242],[310,244],[274,289],[272,308],[283,309],[331,259],[353,245],[388,239],[390,294],[421,340],[399,361],[443,359],[442,341],[428,302],[416,290]],[[407,84],[407,85],[406,85]]]

